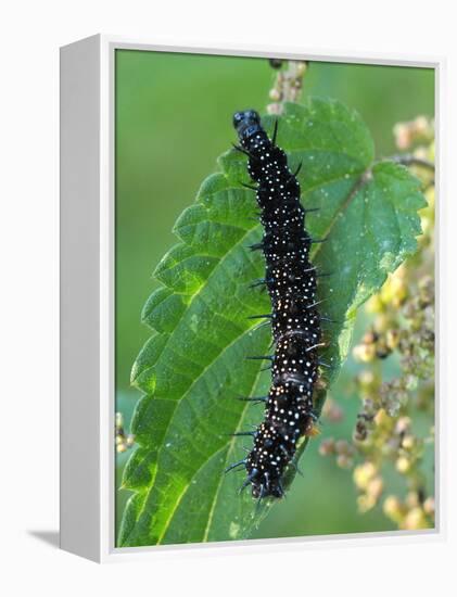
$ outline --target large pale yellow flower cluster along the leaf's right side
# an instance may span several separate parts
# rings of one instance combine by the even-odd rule
[[[397,124],[394,134],[398,149],[411,151],[395,161],[421,180],[428,201],[420,212],[419,250],[366,304],[369,328],[353,348],[361,364],[355,379],[361,407],[352,442],[326,440],[319,452],[353,470],[360,512],[382,500],[384,515],[399,529],[416,530],[434,524],[427,482],[432,459],[424,458],[434,442],[433,123],[420,116]],[[396,495],[397,482],[395,492],[390,490],[395,475],[403,480],[403,496]]]

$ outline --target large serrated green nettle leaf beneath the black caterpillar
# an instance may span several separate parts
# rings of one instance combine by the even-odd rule
[[[264,125],[271,129],[272,118]],[[328,326],[322,356],[332,364],[331,381],[346,358],[357,307],[416,251],[417,212],[426,203],[404,166],[373,165],[369,131],[339,102],[287,104],[277,142],[291,169],[303,163],[303,204],[320,207],[307,216],[309,233],[329,237],[315,245],[313,261],[333,275],[318,291],[322,313],[339,321]],[[241,186],[249,180],[245,157],[231,150],[219,165],[178,218],[181,242],[158,264],[163,287],[142,314],[154,333],[132,369],[131,382],[144,395],[131,429],[139,448],[124,472],[123,486],[135,494],[119,546],[244,538],[265,513],[249,490],[238,495],[242,472],[224,474],[249,446],[230,434],[262,420],[262,406],[236,398],[268,391],[269,372],[245,357],[267,354],[271,336],[268,326],[249,319],[268,313],[269,300],[250,288],[265,265],[247,249],[262,229],[254,192]],[[319,407],[323,398],[321,392]]]

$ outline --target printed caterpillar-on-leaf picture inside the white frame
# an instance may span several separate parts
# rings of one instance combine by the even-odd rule
[[[434,528],[434,71],[116,50],[116,546]]]

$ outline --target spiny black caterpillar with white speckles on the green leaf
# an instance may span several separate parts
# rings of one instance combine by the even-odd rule
[[[244,466],[253,497],[284,494],[281,480],[304,435],[316,433],[317,414],[313,392],[318,383],[318,348],[321,343],[317,309],[316,267],[309,262],[314,241],[305,230],[305,214],[300,202],[300,168],[292,174],[285,153],[276,145],[277,124],[271,140],[252,110],[237,112],[233,126],[240,145],[236,149],[249,156],[247,172],[257,182],[264,237],[253,250],[262,250],[266,261],[265,279],[272,314],[262,315],[271,321],[275,354],[271,357],[271,386],[268,396],[245,398],[265,402],[264,421],[254,432],[254,446],[244,460],[227,469]],[[257,317],[257,316],[255,316]]]

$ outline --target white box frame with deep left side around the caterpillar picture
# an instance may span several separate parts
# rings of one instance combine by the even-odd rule
[[[341,53],[310,49],[271,52],[262,47],[155,46],[93,36],[61,49],[61,547],[98,561],[122,561],[174,549],[249,550],[436,541],[443,537],[443,417],[445,398],[436,369],[436,526],[421,532],[368,533],[168,547],[117,548],[114,544],[114,53],[117,49],[310,61],[421,66],[435,71],[437,135],[436,226],[443,217],[442,74],[444,59]],[[440,259],[442,239],[437,246]],[[436,262],[436,284],[442,262]],[[439,296],[441,294],[437,293]],[[442,309],[437,308],[440,353]],[[84,371],[84,376],[80,372]],[[84,442],[80,441],[81,436]],[[81,516],[84,512],[84,516]]]

